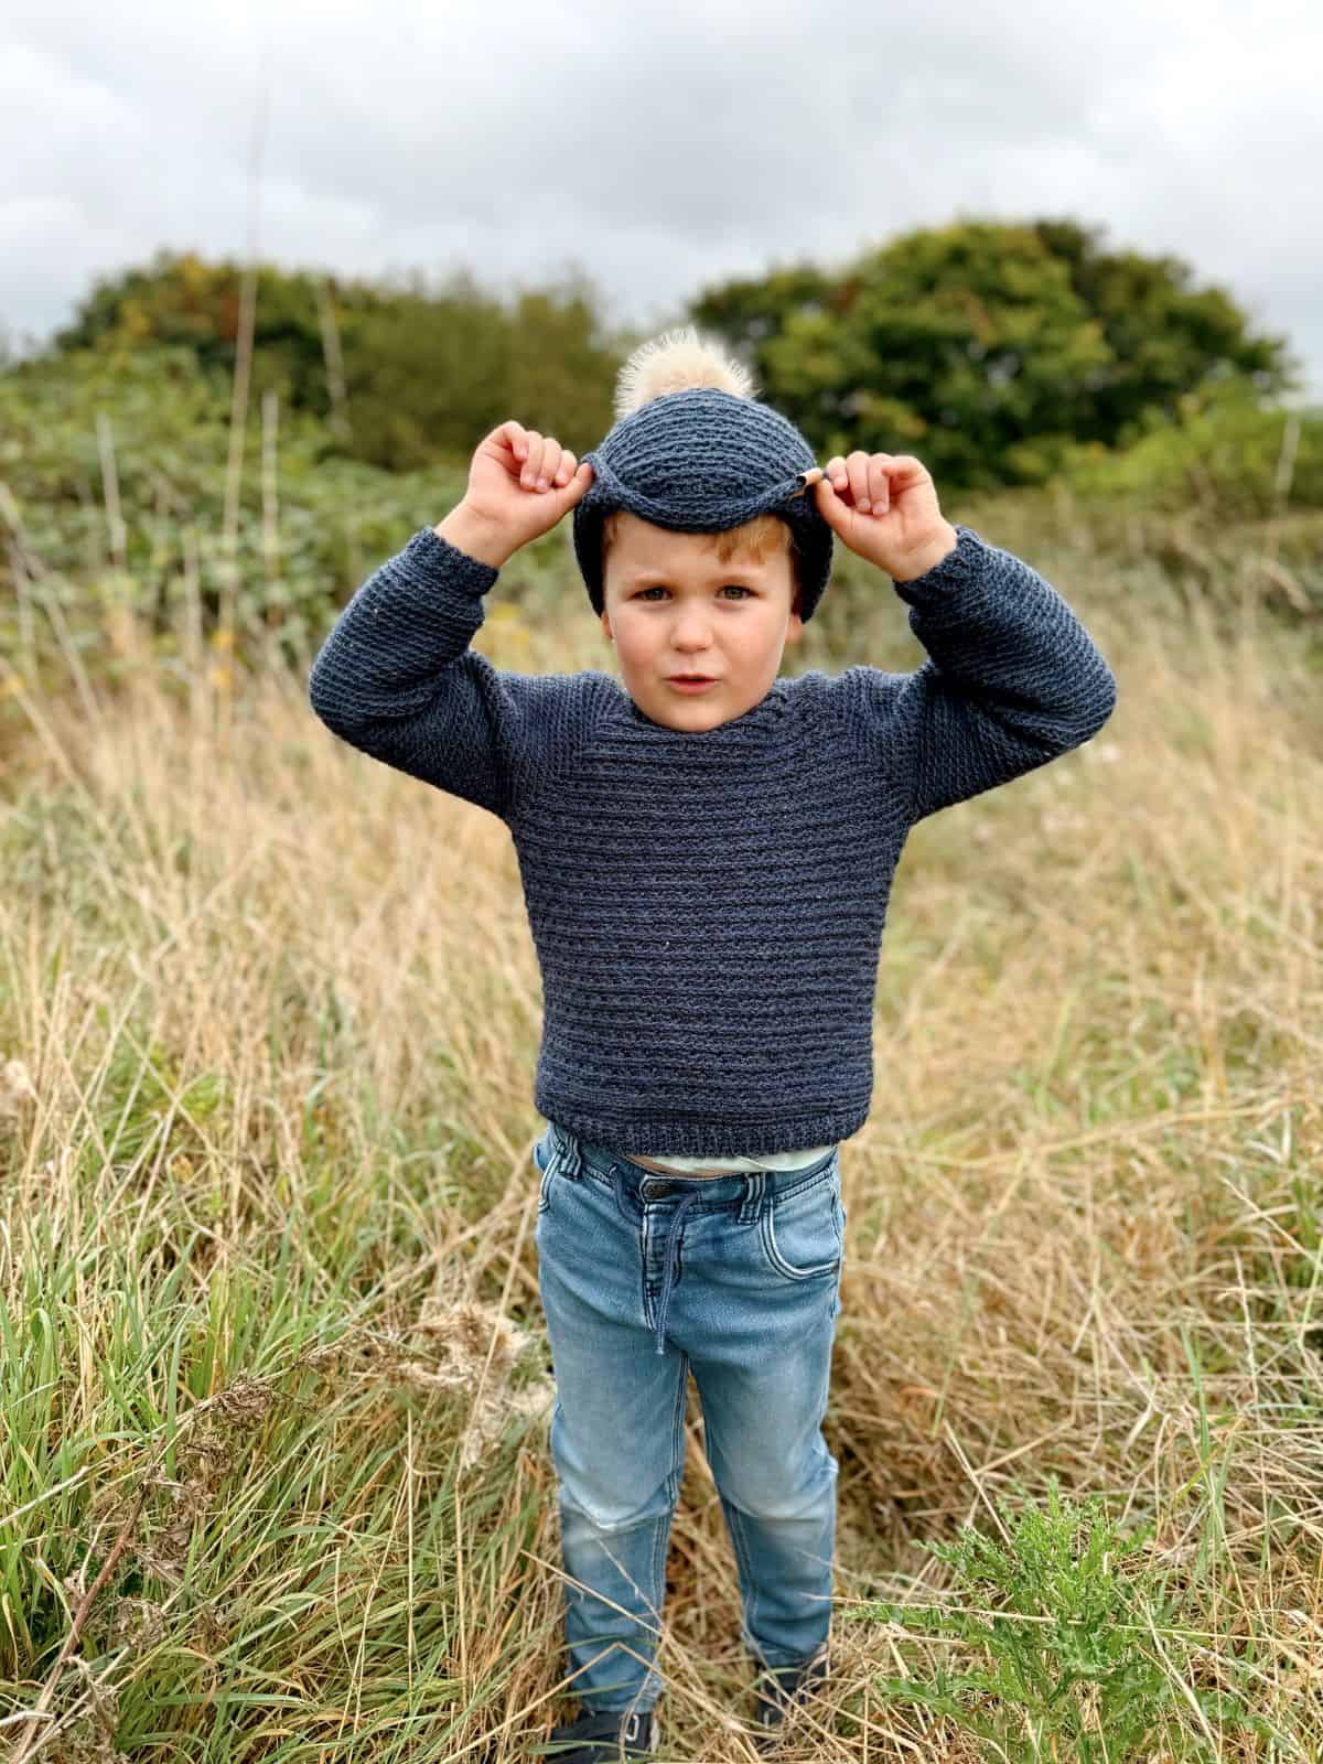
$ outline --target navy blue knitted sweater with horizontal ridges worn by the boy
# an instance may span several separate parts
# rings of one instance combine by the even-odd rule
[[[430,527],[340,612],[316,714],[510,829],[549,1120],[656,1157],[834,1145],[864,1124],[908,829],[1083,744],[1117,699],[1057,589],[972,527],[956,538],[894,584],[919,669],[776,679],[704,730],[654,723],[605,672],[496,669],[469,642],[497,572]]]

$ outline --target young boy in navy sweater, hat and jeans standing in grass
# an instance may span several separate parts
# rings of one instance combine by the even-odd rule
[[[499,815],[519,856],[543,979],[536,1247],[582,1706],[552,1732],[563,1764],[658,1743],[690,1367],[764,1748],[820,1683],[840,1141],[868,1117],[896,861],[923,817],[1088,741],[1117,693],[1060,594],[953,527],[917,459],[820,471],[691,330],[635,351],[616,415],[582,464],[517,422],[492,430],[464,499],[363,582],[309,683],[335,734]],[[501,566],[572,508],[623,688],[469,649]],[[916,672],[778,677],[833,534],[908,603]]]

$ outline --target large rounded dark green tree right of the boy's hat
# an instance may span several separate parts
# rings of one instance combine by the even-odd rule
[[[691,319],[750,362],[820,459],[919,453],[967,489],[1041,483],[1080,443],[1125,445],[1143,413],[1252,376],[1291,379],[1175,258],[1110,256],[1071,220],[916,229],[834,273],[810,265],[704,291]]]

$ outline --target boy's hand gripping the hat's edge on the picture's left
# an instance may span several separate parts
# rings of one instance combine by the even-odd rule
[[[538,483],[545,489],[538,489]],[[485,436],[469,464],[469,487],[436,531],[475,534],[487,559],[513,556],[520,545],[540,538],[584,496],[593,467],[575,466],[575,457],[554,436],[506,422]],[[443,531],[448,529],[448,531]],[[480,534],[480,538],[476,538]],[[467,547],[459,540],[460,550]]]

